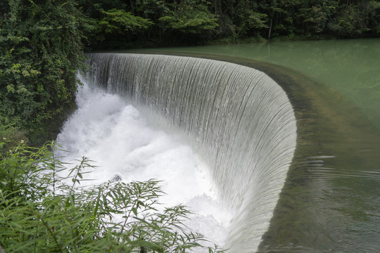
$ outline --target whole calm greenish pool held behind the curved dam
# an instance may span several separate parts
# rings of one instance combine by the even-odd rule
[[[322,116],[300,120],[309,137],[260,252],[380,252],[380,39],[162,50],[260,60],[317,83]]]

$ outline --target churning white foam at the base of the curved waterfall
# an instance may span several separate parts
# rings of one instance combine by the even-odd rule
[[[165,207],[183,204],[194,214],[186,222],[218,245],[227,238],[232,212],[216,199],[208,167],[178,136],[154,129],[139,110],[120,96],[84,86],[78,108],[65,122],[58,143],[70,153],[65,160],[88,157],[98,166],[91,184],[112,180],[157,179],[167,195]]]

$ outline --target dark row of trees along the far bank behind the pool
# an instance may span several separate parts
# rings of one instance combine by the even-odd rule
[[[93,46],[158,46],[239,41],[249,37],[318,39],[378,37],[380,3],[376,0],[131,0],[79,1],[99,22],[103,11],[118,9],[150,25],[124,37],[95,34]],[[107,42],[108,41],[108,42]]]

